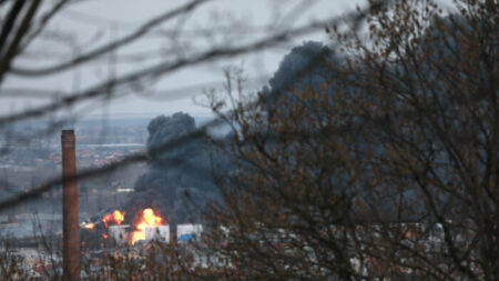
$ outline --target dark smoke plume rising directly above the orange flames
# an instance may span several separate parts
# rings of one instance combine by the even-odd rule
[[[195,121],[187,113],[160,116],[147,127],[147,150],[195,130]],[[171,222],[196,220],[205,203],[215,197],[212,162],[216,157],[204,139],[183,143],[174,150],[150,154],[150,170],[135,183],[138,194],[129,208],[152,207],[161,210]],[[215,160],[214,160],[215,159]]]

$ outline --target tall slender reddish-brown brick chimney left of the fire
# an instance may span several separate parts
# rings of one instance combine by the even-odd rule
[[[78,185],[75,137],[73,130],[62,130],[62,235],[63,280],[80,280],[80,228],[78,224]]]

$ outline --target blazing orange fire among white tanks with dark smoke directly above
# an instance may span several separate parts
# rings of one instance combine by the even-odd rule
[[[203,205],[216,198],[212,164],[222,163],[222,157],[215,155],[204,139],[187,140],[169,150],[161,149],[194,130],[194,119],[182,112],[151,120],[147,127],[151,160],[147,172],[135,183],[135,192],[120,210],[110,210],[82,225],[85,235],[99,241],[96,247],[111,241],[119,244],[154,239],[170,242],[171,234],[198,237],[201,225],[185,230],[180,224],[181,233],[176,224],[197,220]],[[192,202],[195,208],[189,209]]]

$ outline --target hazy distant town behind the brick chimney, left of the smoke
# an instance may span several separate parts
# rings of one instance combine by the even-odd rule
[[[78,169],[98,168],[122,159],[124,155],[145,150],[149,120],[118,121],[112,127],[103,127],[100,121],[86,121],[75,126]],[[29,191],[61,173],[60,136],[53,134],[30,141],[0,140],[7,153],[0,154],[0,189],[2,197],[9,193]],[[133,191],[136,178],[144,172],[146,163],[123,167],[103,177],[79,182],[81,215],[95,213],[110,203],[120,204],[125,193]],[[20,205],[10,213],[39,212],[45,204],[61,213],[61,189],[51,192],[34,203]]]

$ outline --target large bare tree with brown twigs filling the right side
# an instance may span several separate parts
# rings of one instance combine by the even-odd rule
[[[211,248],[230,272],[496,280],[497,9],[371,1],[367,39],[332,26],[338,50],[315,51],[286,87],[276,74],[247,103],[236,77],[214,96],[233,129],[214,141],[236,168]]]

